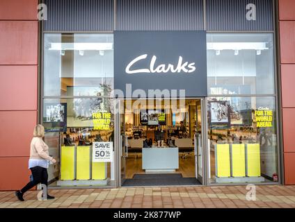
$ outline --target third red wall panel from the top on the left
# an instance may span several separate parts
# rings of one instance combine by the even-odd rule
[[[0,65],[0,110],[37,110],[38,66]]]

